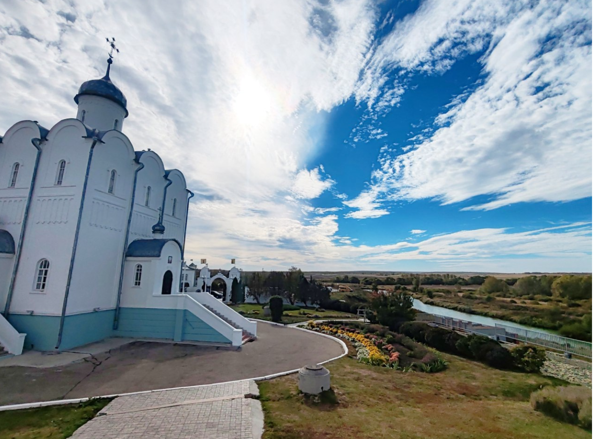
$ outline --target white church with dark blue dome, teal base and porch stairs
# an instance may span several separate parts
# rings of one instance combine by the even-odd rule
[[[126,98],[84,82],[75,118],[0,136],[0,344],[68,350],[107,337],[240,346],[256,323],[180,291],[189,200],[181,171],[124,134]]]

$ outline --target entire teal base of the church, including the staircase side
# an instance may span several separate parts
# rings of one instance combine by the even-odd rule
[[[82,346],[108,337],[163,338],[175,341],[202,341],[230,344],[231,341],[184,309],[120,308],[119,325],[113,330],[115,310],[66,316],[58,350]],[[18,332],[27,334],[25,349],[56,350],[60,318],[10,314],[8,321]]]

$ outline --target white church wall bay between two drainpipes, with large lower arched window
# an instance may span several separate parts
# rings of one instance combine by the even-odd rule
[[[27,232],[12,296],[11,312],[59,315],[62,310],[72,243],[78,217],[88,151],[91,141],[75,119],[56,124],[42,143],[42,154],[33,190]],[[24,142],[23,139],[23,143]],[[62,185],[55,185],[56,161],[68,164]],[[30,158],[28,166],[34,163]],[[18,245],[18,235],[15,245]],[[35,290],[37,263],[46,258],[49,276],[44,291]]]

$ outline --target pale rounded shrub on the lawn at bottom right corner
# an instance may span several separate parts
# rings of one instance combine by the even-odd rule
[[[531,406],[554,419],[591,428],[591,389],[582,386],[544,387],[531,393]]]

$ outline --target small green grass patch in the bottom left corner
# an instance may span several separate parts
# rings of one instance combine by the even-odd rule
[[[61,439],[93,419],[111,398],[0,412],[0,439]]]

